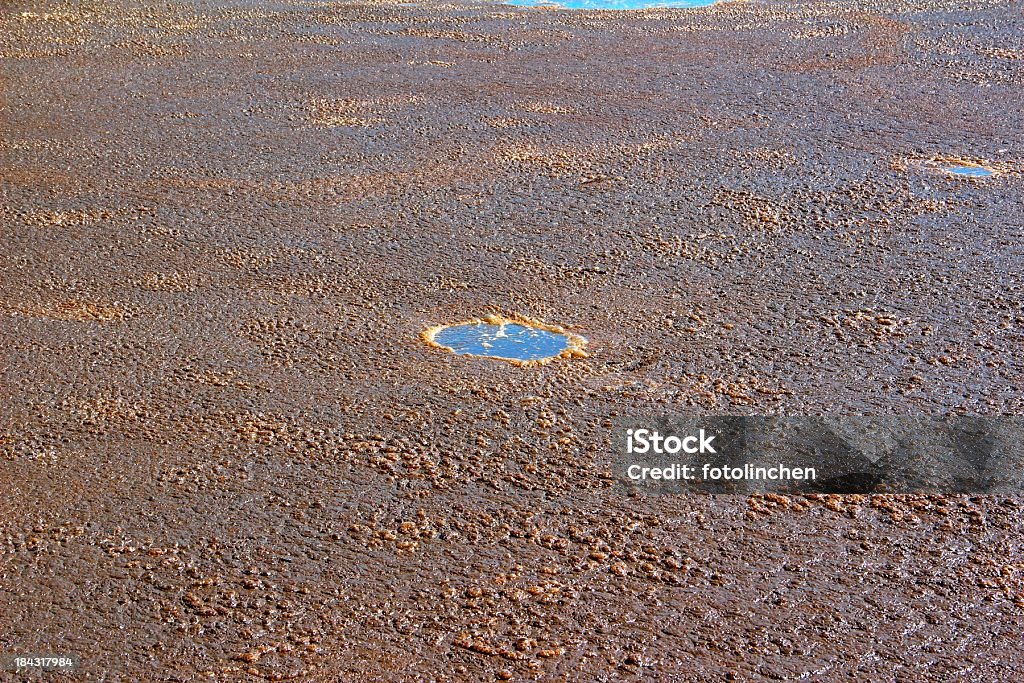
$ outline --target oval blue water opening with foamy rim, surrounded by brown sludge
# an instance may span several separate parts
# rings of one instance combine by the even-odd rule
[[[463,355],[524,361],[553,358],[570,346],[563,334],[516,323],[455,325],[438,330],[433,341]]]

